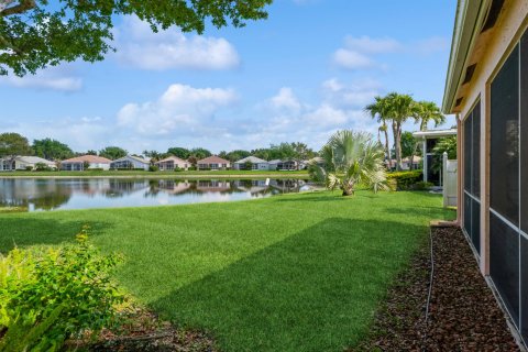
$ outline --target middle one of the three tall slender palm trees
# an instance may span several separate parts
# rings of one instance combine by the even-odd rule
[[[394,148],[396,152],[396,169],[402,169],[402,125],[407,119],[415,116],[416,101],[409,95],[397,92],[388,94],[386,99],[386,117],[391,119],[394,134]]]

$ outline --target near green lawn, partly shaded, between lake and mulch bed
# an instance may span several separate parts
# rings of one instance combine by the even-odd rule
[[[84,223],[125,254],[119,280],[223,351],[342,351],[364,338],[391,279],[451,219],[427,193],[0,215],[0,251],[70,241]]]

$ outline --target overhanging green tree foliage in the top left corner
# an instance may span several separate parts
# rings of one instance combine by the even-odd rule
[[[61,62],[97,62],[114,48],[112,28],[119,15],[136,15],[152,30],[173,25],[202,33],[266,19],[272,0],[0,0],[0,75],[18,76]]]

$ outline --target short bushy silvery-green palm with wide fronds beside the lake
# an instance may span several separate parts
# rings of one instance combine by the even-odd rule
[[[343,196],[354,195],[358,186],[375,193],[388,189],[384,151],[369,133],[342,130],[336,132],[320,152],[324,167],[310,165],[310,176],[324,182],[327,188],[340,188]]]

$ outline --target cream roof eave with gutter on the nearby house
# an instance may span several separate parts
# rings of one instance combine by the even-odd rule
[[[492,0],[459,0],[454,20],[451,55],[442,101],[442,112],[455,112],[457,95],[463,84],[476,37],[482,31]]]

